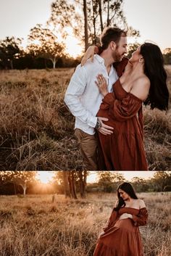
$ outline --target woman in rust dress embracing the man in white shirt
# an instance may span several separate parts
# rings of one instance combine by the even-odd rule
[[[91,46],[88,57],[94,49]],[[109,120],[105,124],[114,128],[111,135],[97,133],[99,170],[148,170],[143,145],[142,104],[149,104],[151,109],[167,110],[169,92],[162,52],[157,45],[145,43],[133,52],[129,62],[125,59],[122,62],[123,65],[118,66],[115,63],[119,79],[112,93],[107,91],[102,75],[96,82],[104,96],[97,116],[107,117]]]

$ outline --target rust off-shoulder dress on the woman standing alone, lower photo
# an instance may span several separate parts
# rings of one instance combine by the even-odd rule
[[[132,214],[133,219],[119,220],[123,213]],[[146,225],[147,218],[145,207],[140,210],[131,207],[122,207],[118,212],[113,210],[93,256],[143,256],[138,226]]]

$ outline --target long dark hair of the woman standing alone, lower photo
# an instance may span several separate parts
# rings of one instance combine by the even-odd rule
[[[120,197],[119,189],[122,189],[123,191],[125,191],[131,198],[138,199],[133,189],[133,186],[129,182],[123,182],[117,188],[118,202],[117,202],[117,206],[114,207],[114,210],[116,211],[120,210],[121,207],[125,207],[125,201],[122,199],[122,197]]]

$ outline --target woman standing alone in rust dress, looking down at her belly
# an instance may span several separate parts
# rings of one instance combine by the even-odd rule
[[[146,225],[148,213],[130,183],[117,189],[117,205],[100,235],[93,256],[143,256],[138,226]]]

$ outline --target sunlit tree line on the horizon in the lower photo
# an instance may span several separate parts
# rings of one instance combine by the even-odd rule
[[[114,171],[98,171],[98,181],[96,183],[87,183],[90,172],[86,170],[70,170],[70,171],[52,171],[54,178],[49,183],[48,189],[44,193],[64,194],[65,197],[78,199],[85,198],[88,192],[106,192],[111,193],[117,190],[117,186],[125,181],[121,173]],[[25,197],[28,194],[42,193],[40,190],[36,174],[38,171],[0,171],[0,194],[17,194],[20,191]],[[134,177],[130,181],[135,191],[171,191],[171,172],[157,171],[149,180]],[[47,186],[47,185],[46,185]],[[10,193],[8,193],[9,191]]]

